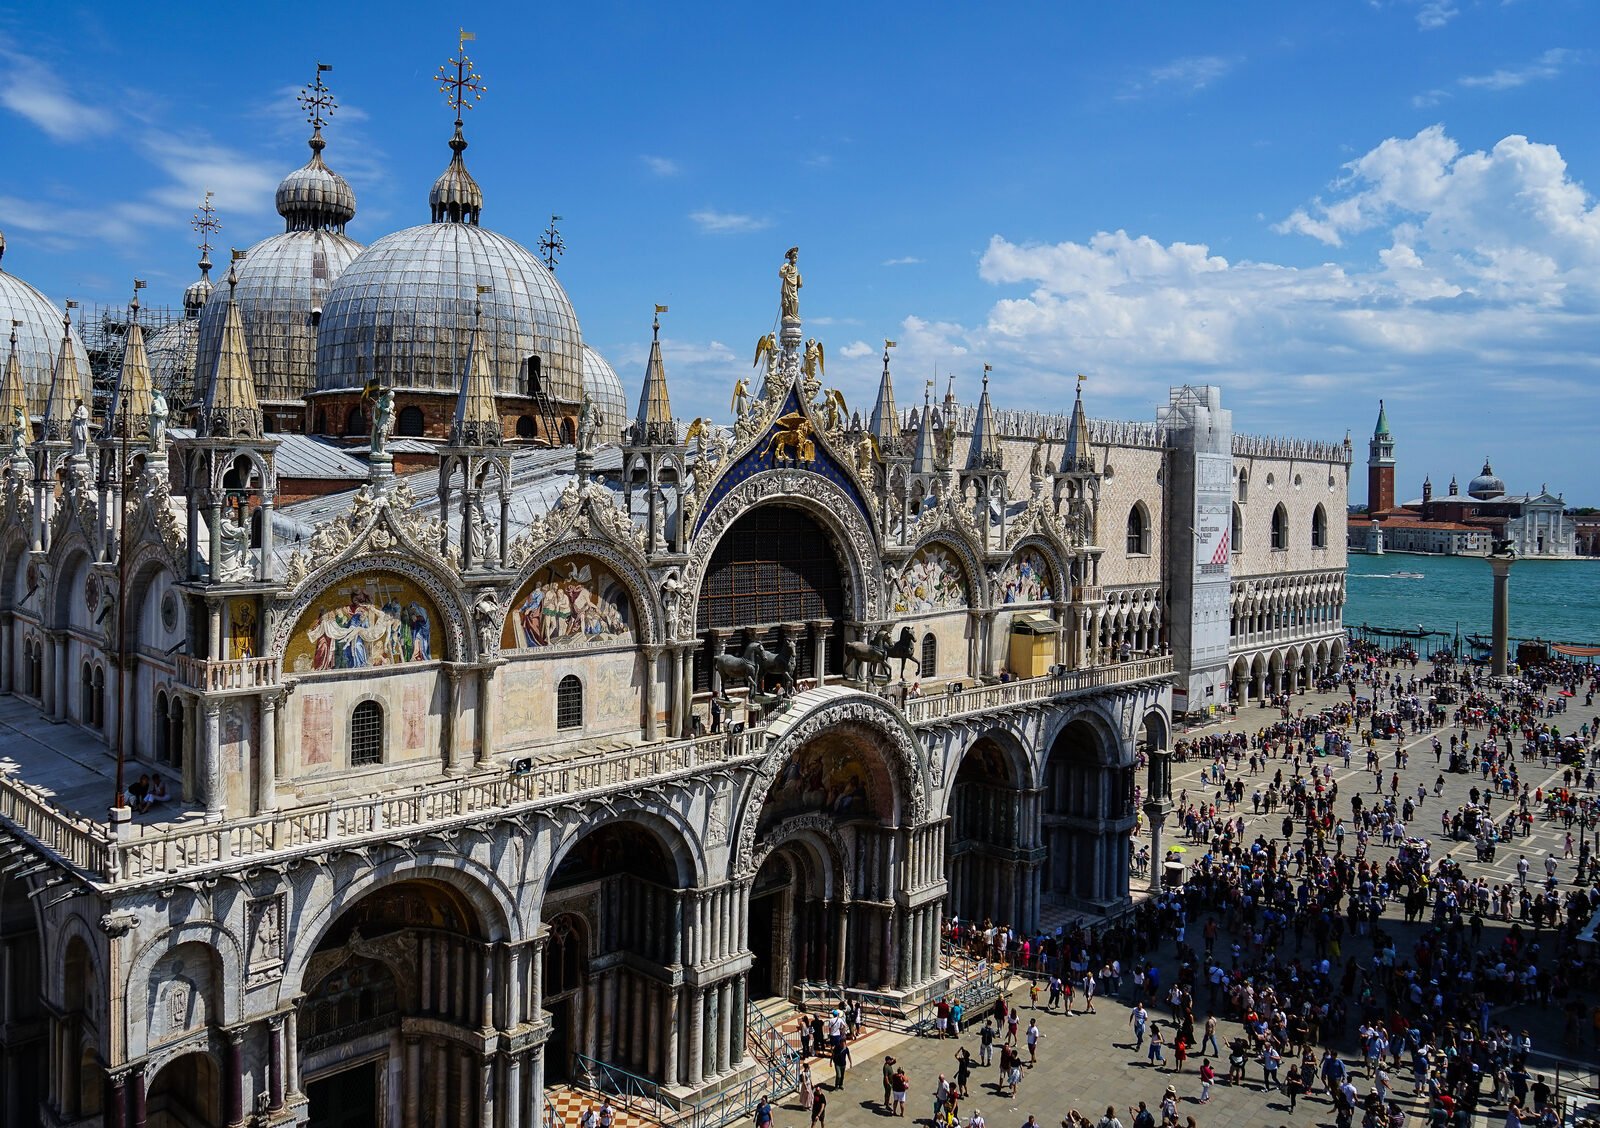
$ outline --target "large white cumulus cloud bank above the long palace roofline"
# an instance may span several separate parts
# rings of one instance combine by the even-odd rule
[[[1149,418],[1171,384],[1219,382],[1250,427],[1326,438],[1357,398],[1398,389],[1437,403],[1493,389],[1483,427],[1526,406],[1518,387],[1600,406],[1600,206],[1554,146],[1510,136],[1470,152],[1440,126],[1389,139],[1278,229],[1347,258],[1229,259],[1125,230],[995,235],[979,275],[998,293],[981,318],[907,317],[888,333],[899,403],[920,403],[934,373],[934,395],[954,373],[971,402],[987,360],[1002,406],[1067,410],[1083,371],[1093,411]],[[851,403],[870,402],[875,355],[851,342],[829,357]]]

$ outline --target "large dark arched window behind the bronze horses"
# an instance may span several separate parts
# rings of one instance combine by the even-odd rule
[[[818,674],[816,627],[810,624],[822,624],[822,666],[827,674],[842,674],[845,581],[832,534],[794,506],[752,509],[717,542],[696,616],[706,640],[694,662],[696,690],[710,690],[714,630],[723,632],[733,651],[750,640],[776,650],[787,634],[795,646],[795,677],[810,678]]]

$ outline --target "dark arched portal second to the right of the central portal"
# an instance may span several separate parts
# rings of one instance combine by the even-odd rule
[[[1045,760],[1040,840],[1045,894],[1056,904],[1114,906],[1128,896],[1133,765],[1088,720],[1056,736]]]

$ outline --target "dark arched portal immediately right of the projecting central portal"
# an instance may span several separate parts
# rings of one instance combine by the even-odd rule
[[[950,912],[966,922],[984,918],[1034,928],[1038,862],[1037,792],[1022,786],[1014,749],[981,736],[962,755],[950,786],[946,874]]]

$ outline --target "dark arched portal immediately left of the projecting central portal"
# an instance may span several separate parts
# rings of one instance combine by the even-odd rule
[[[686,882],[656,830],[611,819],[562,854],[544,894],[546,1082],[616,1066],[677,1085]]]

